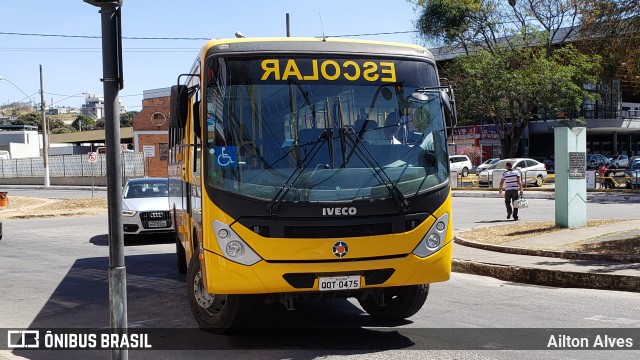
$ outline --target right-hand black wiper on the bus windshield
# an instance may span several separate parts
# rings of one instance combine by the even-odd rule
[[[355,154],[358,157],[358,159],[362,160],[362,162],[367,164],[369,168],[371,168],[374,171],[373,173],[374,176],[382,184],[384,184],[387,190],[389,190],[389,194],[396,201],[396,204],[398,204],[398,207],[400,208],[400,210],[402,212],[409,210],[409,201],[407,200],[407,198],[402,194],[402,191],[398,189],[398,187],[393,182],[393,180],[391,180],[391,178],[389,177],[389,174],[387,174],[387,172],[384,171],[384,168],[380,165],[380,163],[376,161],[375,156],[371,154],[369,149],[367,149],[364,146],[361,146],[362,143],[358,141],[357,138],[354,138],[354,135],[357,136],[355,131],[352,128],[341,128],[340,131],[343,134],[344,138],[346,140],[349,140],[349,143],[350,143],[349,145],[351,146],[351,152],[349,153],[349,156],[347,157],[347,159],[345,160],[342,166],[346,167],[351,156]]]

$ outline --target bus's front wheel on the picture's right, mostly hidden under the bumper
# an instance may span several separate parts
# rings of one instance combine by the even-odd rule
[[[429,295],[429,284],[399,286],[384,289],[384,305],[375,296],[358,300],[369,315],[383,320],[402,320],[415,315]]]

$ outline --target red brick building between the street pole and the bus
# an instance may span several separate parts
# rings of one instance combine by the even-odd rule
[[[142,110],[133,119],[134,151],[149,155],[145,157],[149,177],[168,175],[170,96],[170,88],[143,91]]]

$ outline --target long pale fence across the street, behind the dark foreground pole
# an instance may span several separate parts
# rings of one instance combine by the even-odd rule
[[[143,153],[123,152],[122,175],[126,177],[144,176],[145,163]],[[107,176],[107,156],[98,154],[96,162],[89,162],[84,155],[58,155],[49,157],[50,177],[102,177]],[[0,160],[0,178],[44,177],[44,159],[2,159]]]

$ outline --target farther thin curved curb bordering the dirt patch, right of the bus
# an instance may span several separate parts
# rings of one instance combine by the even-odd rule
[[[453,241],[456,244],[468,246],[476,249],[496,251],[507,254],[527,255],[527,256],[545,256],[559,259],[570,260],[593,260],[593,261],[616,261],[625,263],[640,263],[640,256],[638,255],[605,255],[605,254],[593,254],[593,253],[581,253],[576,251],[553,251],[542,249],[527,249],[520,247],[509,247],[501,245],[483,244],[475,241],[465,240],[459,237],[454,237]]]

